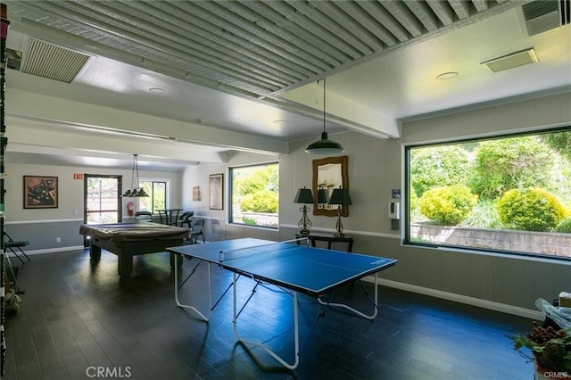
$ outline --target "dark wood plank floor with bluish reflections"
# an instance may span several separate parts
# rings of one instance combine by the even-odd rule
[[[529,319],[382,286],[376,319],[328,310],[309,336],[320,308],[303,296],[301,360],[290,371],[259,348],[247,351],[236,343],[231,296],[220,302],[210,323],[176,307],[166,253],[137,257],[130,278],[117,276],[111,253],[103,252],[96,264],[88,256],[83,251],[35,255],[20,268],[19,285],[26,293],[21,309],[6,318],[3,378],[533,378],[532,364],[506,337],[526,330]],[[191,263],[185,262],[183,274]],[[197,274],[204,276],[203,270]],[[218,268],[213,275],[219,293],[230,276]],[[242,281],[240,293],[249,293],[248,281]],[[361,291],[359,285],[347,286],[339,296],[360,305]],[[205,282],[190,283],[181,299],[206,305],[206,294]],[[293,360],[291,305],[291,296],[261,288],[239,318],[241,334],[267,341]]]

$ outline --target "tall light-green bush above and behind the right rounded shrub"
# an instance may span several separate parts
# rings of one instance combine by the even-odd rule
[[[550,149],[534,136],[485,141],[469,185],[480,197],[497,199],[509,189],[545,187],[552,166]]]

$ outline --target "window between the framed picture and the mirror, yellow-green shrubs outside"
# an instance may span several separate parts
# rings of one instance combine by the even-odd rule
[[[230,169],[230,222],[277,228],[277,163]]]

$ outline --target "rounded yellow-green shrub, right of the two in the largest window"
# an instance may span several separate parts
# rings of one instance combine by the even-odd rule
[[[503,194],[498,213],[504,226],[524,231],[552,231],[565,218],[565,208],[557,197],[536,187]]]

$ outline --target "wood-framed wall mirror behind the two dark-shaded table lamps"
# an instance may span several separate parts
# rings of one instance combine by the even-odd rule
[[[337,216],[337,205],[321,203],[319,201],[319,191],[327,194],[327,200],[331,196],[334,188],[349,188],[349,177],[347,176],[347,156],[327,157],[320,160],[313,160],[313,215],[326,215],[328,217]],[[341,215],[349,215],[349,206],[343,206]]]

